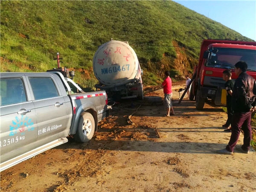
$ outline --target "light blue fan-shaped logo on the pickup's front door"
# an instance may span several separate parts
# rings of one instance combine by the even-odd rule
[[[15,119],[12,120],[12,125],[10,125],[9,136],[14,136],[17,133],[24,135],[25,128],[27,128],[28,131],[34,131],[35,127],[33,125],[32,119],[29,119],[28,116],[22,115],[20,118],[16,116]]]

